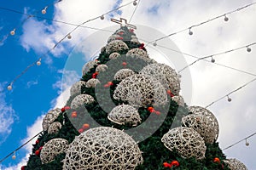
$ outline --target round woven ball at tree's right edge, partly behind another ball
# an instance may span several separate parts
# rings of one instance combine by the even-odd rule
[[[194,128],[206,143],[212,144],[218,139],[218,121],[211,111],[201,106],[190,106],[188,116],[182,119],[186,127]]]

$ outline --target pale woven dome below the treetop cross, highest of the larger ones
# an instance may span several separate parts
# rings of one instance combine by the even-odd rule
[[[112,54],[113,52],[119,52],[125,49],[128,49],[128,46],[125,42],[121,40],[113,40],[112,42],[109,42],[106,46],[106,53]]]

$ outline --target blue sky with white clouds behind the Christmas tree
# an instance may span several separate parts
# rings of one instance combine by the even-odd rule
[[[112,17],[131,20],[131,24],[138,27],[135,33],[140,42],[146,43],[154,41],[158,36],[181,31],[253,1],[141,0],[137,7],[129,0],[62,0],[60,3],[54,3],[55,1],[45,3],[43,0],[37,2],[9,0],[0,4],[0,159],[15,150],[26,139],[40,132],[42,117],[47,111],[65,105],[69,88],[81,77],[84,63],[96,56],[100,48],[106,45],[112,31],[119,27],[110,22]],[[106,14],[127,3],[130,4]],[[47,12],[42,14],[41,10],[45,6],[48,6]],[[27,19],[27,15],[11,12],[5,8],[35,14],[38,17]],[[137,10],[133,15],[135,8]],[[148,54],[160,62],[166,62],[166,58],[171,59],[167,64],[179,71],[182,65],[177,65],[172,59],[177,59],[178,56],[181,60],[186,59],[189,64],[195,61],[195,58],[182,56],[171,50],[167,52],[166,48],[176,48],[180,52],[201,58],[247,46],[256,42],[255,13],[256,5],[237,10],[226,15],[229,21],[224,21],[224,17],[221,17],[192,28],[192,36],[189,36],[189,30],[186,30],[169,37],[168,40],[157,42],[156,47],[148,45]],[[74,25],[102,14],[105,14],[105,20],[92,20],[73,31],[76,28]],[[9,32],[14,28],[15,35],[10,36]],[[63,39],[53,49],[55,43],[71,31],[73,31],[72,38]],[[153,34],[151,31],[158,33]],[[189,105],[206,106],[253,80],[255,78],[253,74],[256,74],[254,66],[256,48],[255,46],[249,48],[252,49],[250,53],[247,52],[247,48],[241,48],[214,56],[215,64],[201,60],[181,72],[185,101]],[[84,63],[78,60],[74,62],[71,58],[79,53],[82,54],[80,59]],[[13,90],[8,91],[9,82],[38,57],[42,58],[42,65],[31,67],[26,74],[17,79]],[[231,102],[224,98],[208,108],[218,119],[220,127],[218,142],[221,148],[244,139],[256,131],[255,87],[256,82],[252,82],[236,93],[230,94]],[[191,90],[188,92],[188,89]],[[249,146],[242,141],[229,150],[224,150],[224,153],[229,158],[235,157],[244,162],[248,169],[254,169],[256,137],[253,136],[247,141]],[[26,157],[31,152],[32,143],[19,150],[15,160],[9,157],[3,161],[0,169],[12,170],[24,165]]]

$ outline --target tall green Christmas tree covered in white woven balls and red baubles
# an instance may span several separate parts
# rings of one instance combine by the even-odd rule
[[[169,65],[121,26],[62,109],[49,111],[22,169],[247,169],[218,147],[211,111],[188,106]]]

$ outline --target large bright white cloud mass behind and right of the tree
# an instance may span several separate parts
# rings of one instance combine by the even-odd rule
[[[127,2],[125,1],[122,4]],[[113,8],[114,3],[115,1],[112,0],[104,1],[104,3],[100,0],[93,2],[76,0],[76,3],[73,3],[73,1],[63,1],[55,6],[54,19],[80,24],[85,20],[107,12]],[[251,3],[251,1],[141,1],[136,14],[131,20],[131,24],[153,27],[156,30],[169,34],[208,20],[218,14],[224,14],[247,3]],[[131,6],[121,9],[122,17],[130,19],[134,8],[131,4]],[[255,6],[237,11],[235,14],[227,15],[230,19],[228,22],[224,22],[224,18],[220,18],[203,26],[193,28],[193,36],[189,36],[188,32],[184,31],[172,36],[171,39],[181,51],[198,57],[246,45],[255,41],[253,39],[256,36],[254,31],[256,23],[253,19],[254,11]],[[108,19],[109,16],[106,16],[106,18]],[[104,28],[113,26],[113,23],[110,23],[109,20],[98,19],[85,26]],[[57,40],[73,30],[73,28],[74,26],[67,26],[61,23],[54,23],[49,26],[44,21],[31,20],[24,25],[25,32],[21,41],[27,50],[33,48],[42,53],[47,48],[51,48]],[[65,42],[73,47],[78,42],[82,42],[92,32],[95,31],[79,28],[73,32],[73,38],[68,41],[65,40]],[[137,34],[137,37],[140,38],[140,35]],[[148,36],[146,40],[152,41],[154,38]],[[107,42],[107,39],[95,38],[93,42],[89,42],[86,47],[90,49],[90,53],[87,55],[93,54],[96,48],[102,44],[102,41]],[[168,47],[168,44],[164,45]],[[254,48],[252,47],[251,54],[248,54],[246,49],[241,49],[230,54],[216,56],[214,59],[220,64],[256,73],[254,65],[256,59],[253,57],[253,53],[255,53]],[[86,49],[87,52],[88,49]],[[60,46],[55,54],[61,54],[61,50],[63,50],[63,46]],[[168,57],[172,58],[172,56]],[[188,56],[185,56],[185,58],[189,63],[195,60]],[[222,97],[224,94],[240,87],[253,78],[244,73],[232,71],[205,61],[192,65],[190,72],[194,87],[191,105],[204,106],[210,104],[213,100]],[[62,84],[66,91],[61,95],[65,96],[65,99],[69,95],[68,87],[72,84],[70,82],[74,81],[73,77],[69,78],[71,79],[67,78],[67,85]],[[191,86],[191,84],[183,84],[183,86]],[[60,88],[61,82],[56,83],[55,87]],[[233,99],[232,102],[229,103],[226,99],[223,99],[209,108],[218,118],[220,127],[218,141],[222,148],[253,133],[256,122],[253,118],[253,114],[256,111],[256,106],[253,103],[256,96],[254,88],[255,82],[241,89],[236,94],[232,94],[230,96]],[[61,98],[55,99],[54,104],[63,106],[64,100]],[[228,154],[228,157],[237,157],[245,162],[249,169],[252,169],[254,163],[253,156],[256,151],[253,142],[255,143],[255,138],[251,139],[249,149],[244,144],[238,144],[236,147],[226,150],[225,153]],[[241,150],[244,151],[244,154],[241,154]]]

